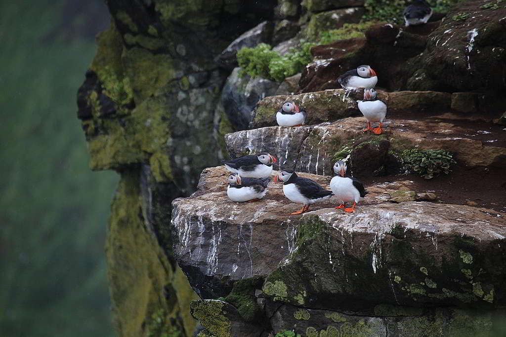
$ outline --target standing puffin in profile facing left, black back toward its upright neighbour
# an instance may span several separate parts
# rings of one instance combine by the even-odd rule
[[[274,177],[275,182],[283,183],[283,193],[290,201],[304,206],[290,215],[306,212],[309,205],[328,199],[334,194],[309,178],[299,177],[295,171],[286,169]]]

